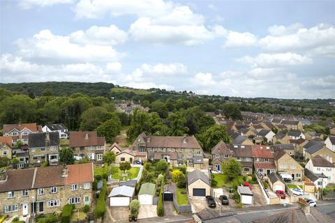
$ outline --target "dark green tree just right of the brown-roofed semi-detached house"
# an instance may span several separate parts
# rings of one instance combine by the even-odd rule
[[[107,143],[112,144],[114,142],[114,137],[116,137],[121,130],[119,117],[114,113],[110,114],[110,119],[101,123],[96,130],[100,136],[106,138]]]

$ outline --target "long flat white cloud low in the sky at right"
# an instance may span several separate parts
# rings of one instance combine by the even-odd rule
[[[258,54],[258,56],[244,56],[237,61],[249,63],[253,67],[281,67],[281,66],[297,66],[312,63],[312,59],[308,56],[301,56],[295,53],[283,54]]]

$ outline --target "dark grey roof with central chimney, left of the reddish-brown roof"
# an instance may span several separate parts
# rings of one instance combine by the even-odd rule
[[[28,148],[59,146],[58,132],[36,132],[28,135]]]

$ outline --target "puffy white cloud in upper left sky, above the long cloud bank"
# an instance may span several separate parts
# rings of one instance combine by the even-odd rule
[[[91,26],[86,31],[70,33],[70,42],[78,44],[118,45],[126,42],[127,38],[127,33],[115,25]]]

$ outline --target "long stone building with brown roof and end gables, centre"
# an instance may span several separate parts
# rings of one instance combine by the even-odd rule
[[[188,167],[208,168],[204,151],[194,136],[162,137],[142,132],[131,146],[133,151],[146,152],[149,160],[165,159],[170,166],[186,164]]]

